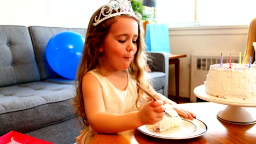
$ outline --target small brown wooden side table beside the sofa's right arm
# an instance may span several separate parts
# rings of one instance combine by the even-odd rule
[[[174,64],[175,67],[175,96],[176,103],[179,103],[179,58],[187,57],[187,55],[170,55],[169,56],[169,65]],[[169,98],[170,99],[170,98]]]

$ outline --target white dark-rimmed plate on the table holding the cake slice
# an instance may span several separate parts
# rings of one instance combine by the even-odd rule
[[[150,131],[146,128],[146,125],[142,125],[137,129],[143,134],[161,139],[190,139],[201,136],[207,131],[206,124],[199,119],[194,118],[193,120],[190,120],[182,118],[182,122],[181,127],[172,128],[161,132]]]

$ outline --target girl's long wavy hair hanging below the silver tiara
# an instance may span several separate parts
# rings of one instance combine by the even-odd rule
[[[85,44],[83,47],[83,54],[80,60],[80,65],[77,71],[77,76],[75,78],[75,86],[77,87],[77,94],[74,98],[74,107],[75,107],[75,116],[80,116],[83,119],[84,126],[88,126],[87,117],[85,115],[85,106],[84,98],[82,93],[82,80],[85,73],[92,69],[98,68],[98,65],[101,65],[103,62],[101,53],[98,49],[104,42],[106,35],[109,32],[110,26],[117,21],[116,17],[109,18],[97,26],[93,26],[94,17],[100,13],[101,8],[99,8],[92,15],[88,29],[85,35]],[[119,15],[122,17],[131,17],[129,15]],[[135,19],[135,17],[132,17]],[[146,73],[147,62],[150,62],[150,59],[146,53],[146,44],[144,42],[144,29],[142,22],[137,18],[135,19],[138,22],[138,40],[137,40],[137,52],[135,53],[134,59],[128,68],[130,74],[134,79],[142,85],[143,87],[149,87],[149,81],[144,76]],[[146,100],[146,96],[138,89],[138,97],[136,99],[136,106],[139,105],[139,101]]]

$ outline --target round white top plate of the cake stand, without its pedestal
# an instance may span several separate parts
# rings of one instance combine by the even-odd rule
[[[230,100],[224,98],[213,97],[205,92],[205,85],[198,86],[194,89],[196,97],[207,100],[213,103],[224,104],[224,105],[234,105],[243,107],[256,107],[256,102],[254,100]]]

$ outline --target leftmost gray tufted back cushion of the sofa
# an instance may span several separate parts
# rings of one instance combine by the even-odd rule
[[[0,26],[0,87],[40,80],[25,26]]]

